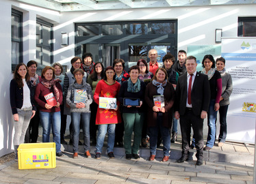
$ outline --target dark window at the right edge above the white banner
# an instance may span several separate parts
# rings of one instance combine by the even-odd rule
[[[256,37],[256,17],[238,18],[238,36]]]

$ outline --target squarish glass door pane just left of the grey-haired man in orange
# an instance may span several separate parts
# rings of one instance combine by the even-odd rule
[[[136,62],[139,59],[146,60],[147,57],[146,44],[129,44],[129,62]]]

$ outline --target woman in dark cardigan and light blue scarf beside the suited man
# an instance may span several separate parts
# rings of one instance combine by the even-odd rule
[[[145,102],[148,104],[148,127],[150,133],[149,161],[155,159],[157,149],[158,130],[162,134],[164,143],[164,157],[162,162],[167,162],[170,151],[170,128],[172,127],[172,106],[175,101],[175,89],[167,80],[167,72],[159,67],[152,78],[152,82],[146,86]]]

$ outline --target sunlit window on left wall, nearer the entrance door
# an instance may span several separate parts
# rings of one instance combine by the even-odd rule
[[[44,20],[36,20],[36,60],[41,65],[53,63],[53,25]]]

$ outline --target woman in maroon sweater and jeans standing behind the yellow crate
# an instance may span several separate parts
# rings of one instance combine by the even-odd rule
[[[55,79],[55,69],[50,66],[42,70],[42,82],[36,86],[34,99],[39,106],[42,123],[42,142],[50,142],[52,127],[53,142],[56,144],[56,155],[62,156],[60,150],[60,104],[62,104],[62,86],[60,79]]]

